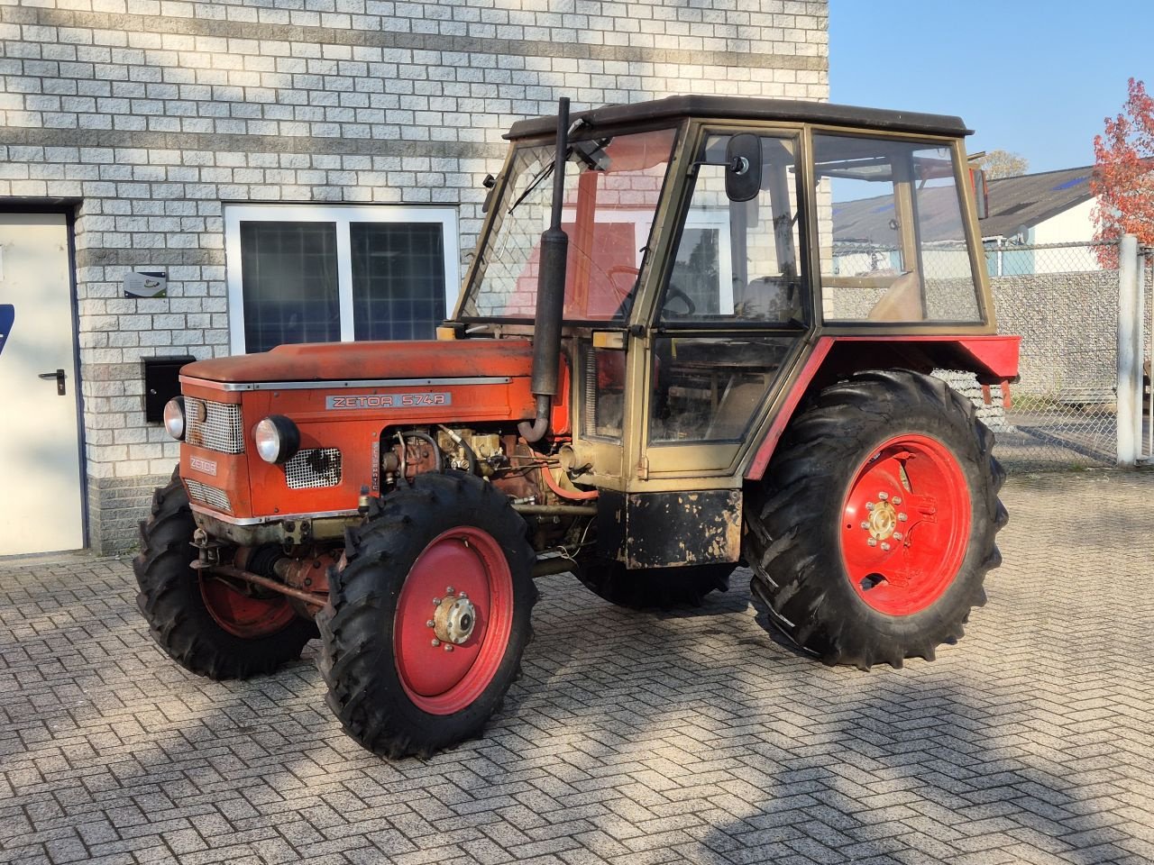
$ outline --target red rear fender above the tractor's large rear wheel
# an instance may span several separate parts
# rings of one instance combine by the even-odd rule
[[[1018,378],[1021,337],[819,337],[797,379],[745,469],[760,480],[781,435],[804,399],[839,378],[865,369],[935,369],[974,373],[981,384],[1005,385]]]

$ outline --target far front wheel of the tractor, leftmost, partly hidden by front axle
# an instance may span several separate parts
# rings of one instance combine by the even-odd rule
[[[316,626],[284,595],[242,594],[189,566],[196,524],[175,472],[152,494],[152,514],[140,531],[136,606],[152,639],[186,669],[211,679],[269,674],[300,657],[316,637]]]

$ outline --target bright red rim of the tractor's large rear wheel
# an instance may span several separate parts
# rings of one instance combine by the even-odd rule
[[[969,526],[969,486],[950,449],[929,436],[894,436],[849,483],[840,532],[846,578],[878,612],[921,612],[958,576]]]

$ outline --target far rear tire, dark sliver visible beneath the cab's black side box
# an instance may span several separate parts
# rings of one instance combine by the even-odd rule
[[[726,592],[736,564],[646,567],[629,571],[621,562],[593,559],[577,569],[590,592],[617,607],[667,610],[700,607],[711,592]]]

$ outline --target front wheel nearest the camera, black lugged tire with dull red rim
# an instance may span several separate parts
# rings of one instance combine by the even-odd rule
[[[345,731],[389,758],[478,736],[520,674],[534,558],[508,499],[462,472],[417,475],[349,529],[317,615],[321,675]],[[458,618],[469,632],[442,641],[434,619],[450,597],[467,597],[472,624]]]

